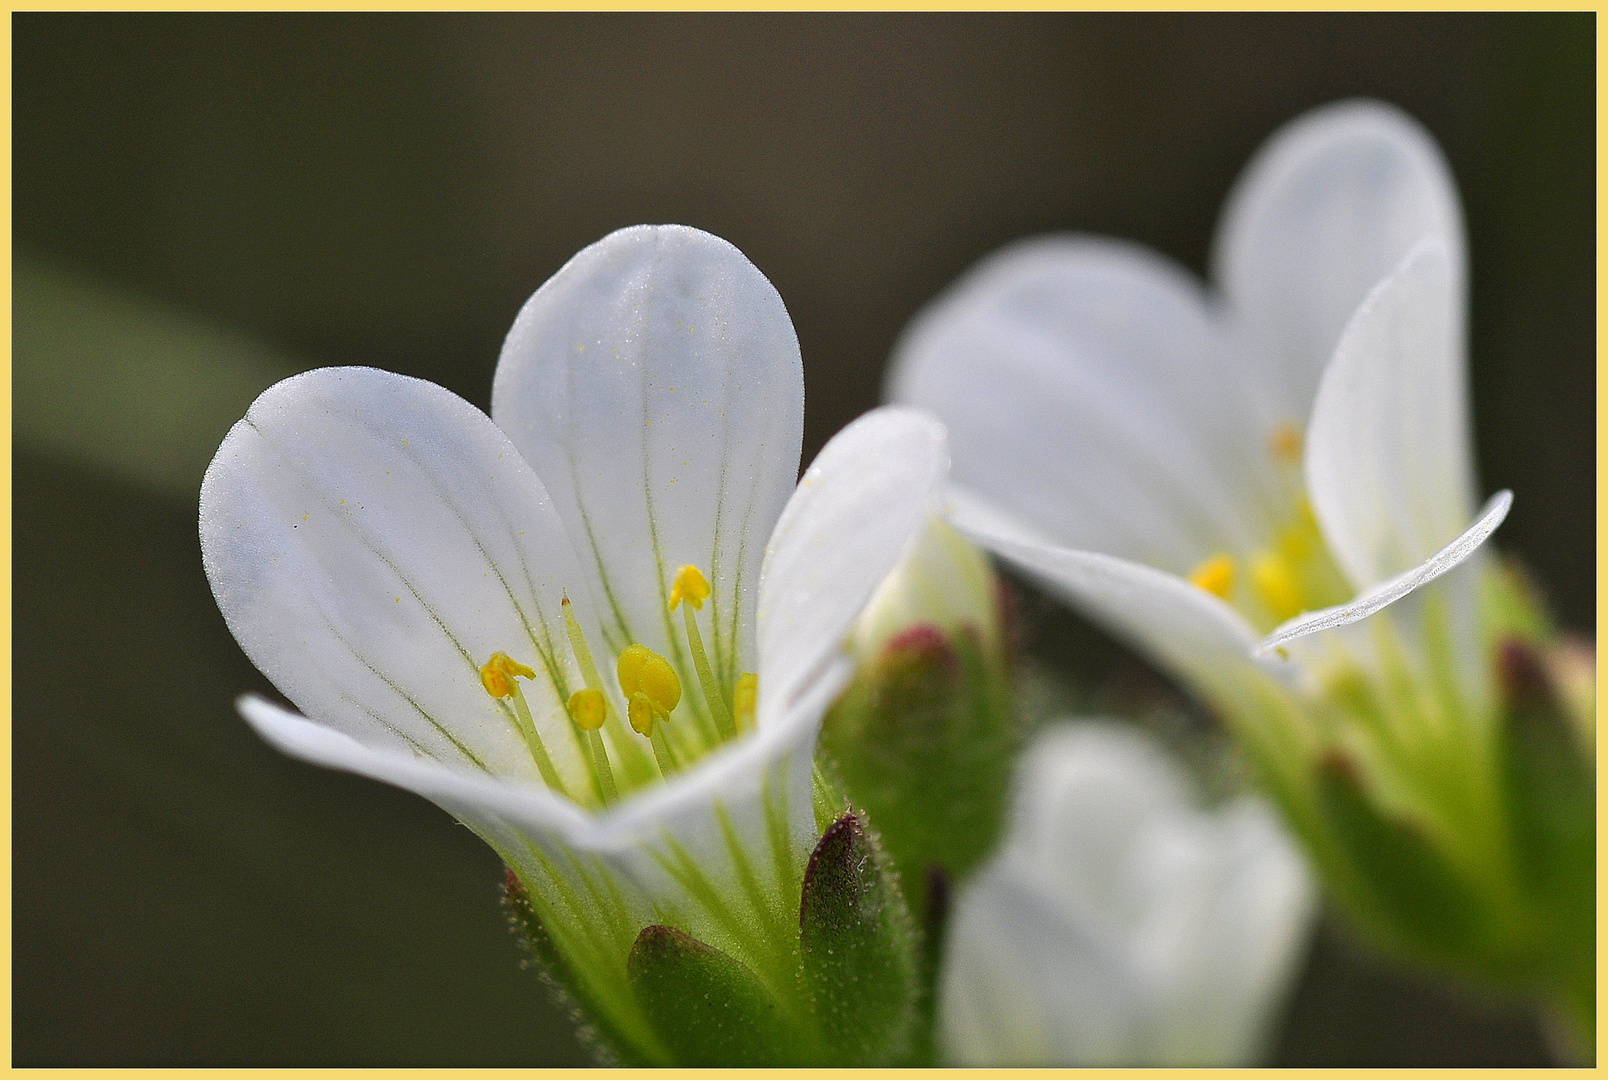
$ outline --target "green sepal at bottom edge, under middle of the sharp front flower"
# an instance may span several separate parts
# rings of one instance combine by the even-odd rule
[[[677,1066],[798,1066],[801,1032],[746,964],[669,926],[648,926],[626,958],[630,988]]]

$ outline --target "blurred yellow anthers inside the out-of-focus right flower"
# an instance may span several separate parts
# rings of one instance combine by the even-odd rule
[[[1192,582],[1237,606],[1264,632],[1302,611],[1351,599],[1351,590],[1323,543],[1312,505],[1301,490],[1301,432],[1278,424],[1269,437],[1269,452],[1293,492],[1294,509],[1272,545],[1246,558],[1249,588],[1238,587],[1238,562],[1227,551],[1217,551],[1190,571]]]

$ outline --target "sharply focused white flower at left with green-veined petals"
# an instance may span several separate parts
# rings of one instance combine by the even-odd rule
[[[244,699],[246,718],[482,836],[645,1061],[666,1058],[626,984],[643,926],[793,977],[820,717],[937,506],[942,429],[900,408],[794,490],[802,408],[759,270],[637,227],[524,305],[492,418],[418,379],[310,371],[257,399],[201,492],[230,630],[307,717]]]

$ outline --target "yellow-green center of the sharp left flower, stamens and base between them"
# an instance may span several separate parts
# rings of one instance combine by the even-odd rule
[[[619,706],[603,685],[569,596],[563,598],[561,608],[569,649],[585,683],[582,689],[569,694],[566,712],[590,781],[587,792],[571,791],[564,784],[531,717],[518,680],[535,678],[535,670],[511,659],[507,652],[492,654],[481,669],[481,683],[492,698],[510,701],[515,728],[531,751],[531,757],[548,788],[576,802],[609,805],[619,800],[621,791],[629,792],[634,788],[671,776],[754,725],[759,678],[753,672],[745,672],[733,686],[722,686],[709,665],[696,619],[709,591],[709,582],[696,566],[683,566],[671,583],[669,609],[682,609],[687,651],[693,661],[699,699],[706,714],[703,725],[691,725],[691,730],[680,733],[682,738],[675,738],[671,728],[677,718],[677,709],[680,707],[682,714],[687,712],[682,677],[675,665],[645,644],[629,644],[621,649],[614,659],[614,678],[624,702],[622,722]],[[711,720],[712,731],[709,730]],[[638,739],[646,739],[651,759],[643,752]],[[616,762],[621,765],[619,773],[614,770]]]

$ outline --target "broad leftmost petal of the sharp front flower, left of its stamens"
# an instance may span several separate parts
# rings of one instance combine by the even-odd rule
[[[479,667],[526,698],[568,783],[579,685],[558,598],[576,575],[540,481],[484,413],[420,379],[322,368],[262,394],[201,487],[201,551],[228,628],[307,715],[357,739],[535,779]]]

